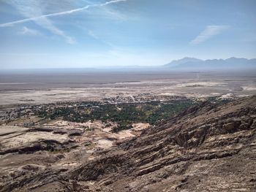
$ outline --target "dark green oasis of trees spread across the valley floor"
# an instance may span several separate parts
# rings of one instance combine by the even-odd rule
[[[132,123],[150,123],[154,125],[161,120],[173,117],[195,104],[191,99],[172,101],[148,101],[144,103],[108,104],[100,102],[76,102],[45,105],[34,113],[41,118],[54,120],[62,118],[77,123],[102,120],[116,122],[113,132],[132,128]]]

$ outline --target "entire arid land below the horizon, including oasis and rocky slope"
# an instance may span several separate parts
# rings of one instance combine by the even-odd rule
[[[1,76],[0,191],[256,189],[253,72],[29,78]]]

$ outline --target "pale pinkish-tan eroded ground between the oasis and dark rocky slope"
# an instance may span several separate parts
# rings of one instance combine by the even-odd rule
[[[40,128],[50,128],[52,131],[0,126],[0,177],[18,173],[24,166],[33,169],[46,169],[48,166],[52,169],[72,169],[85,161],[97,158],[97,151],[108,150],[110,147],[115,147],[116,142],[135,137],[147,128],[148,124],[136,123],[131,130],[118,133],[110,131],[113,126],[116,124],[112,123],[112,126],[105,128],[105,124],[100,121],[72,123],[65,120],[50,120],[40,126]],[[82,134],[71,137],[69,133],[72,131],[80,131]],[[31,150],[28,153],[19,153],[20,149],[45,145],[43,143],[47,141],[57,142],[59,147],[53,152],[31,148],[28,149]]]

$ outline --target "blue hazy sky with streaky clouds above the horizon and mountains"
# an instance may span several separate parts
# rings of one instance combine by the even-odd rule
[[[256,58],[255,0],[0,0],[0,70]]]

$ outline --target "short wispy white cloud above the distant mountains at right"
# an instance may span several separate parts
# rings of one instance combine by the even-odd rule
[[[205,42],[206,40],[211,39],[211,37],[221,34],[227,28],[229,28],[229,26],[206,26],[206,28],[200,32],[200,34],[195,37],[190,44],[197,45],[201,42]]]

